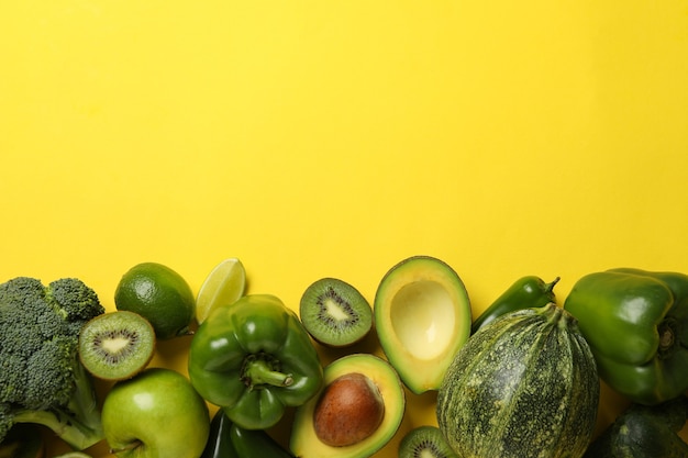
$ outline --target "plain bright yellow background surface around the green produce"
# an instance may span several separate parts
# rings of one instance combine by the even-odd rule
[[[0,37],[3,280],[112,309],[134,264],[197,291],[236,256],[296,308],[424,254],[479,313],[523,275],[688,271],[684,0],[4,0]]]

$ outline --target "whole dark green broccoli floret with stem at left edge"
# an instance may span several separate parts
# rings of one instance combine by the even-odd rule
[[[78,279],[0,284],[0,443],[20,423],[47,426],[79,450],[103,439],[92,380],[78,356],[81,327],[102,313],[96,292]]]

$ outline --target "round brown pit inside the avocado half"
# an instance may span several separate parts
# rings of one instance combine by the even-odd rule
[[[378,387],[363,373],[352,372],[325,387],[313,411],[313,426],[322,443],[346,447],[369,437],[384,417]]]

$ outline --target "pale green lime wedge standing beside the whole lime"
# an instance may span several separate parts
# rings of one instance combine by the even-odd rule
[[[246,289],[246,270],[237,258],[224,259],[206,277],[196,298],[196,320],[201,324],[222,304],[236,302]]]

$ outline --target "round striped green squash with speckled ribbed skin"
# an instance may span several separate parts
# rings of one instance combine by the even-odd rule
[[[462,458],[581,457],[600,383],[576,320],[554,303],[471,336],[437,392],[437,424]]]

